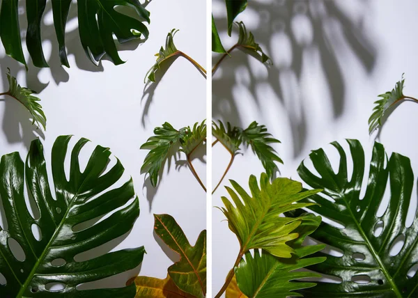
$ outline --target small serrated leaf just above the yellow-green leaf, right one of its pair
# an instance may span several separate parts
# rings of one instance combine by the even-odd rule
[[[242,143],[251,146],[253,152],[261,160],[268,177],[272,179],[274,173],[279,171],[274,162],[283,164],[283,161],[269,144],[280,143],[280,141],[272,138],[272,134],[267,132],[265,125],[258,125],[256,121],[251,123],[245,130],[242,130],[240,136]]]

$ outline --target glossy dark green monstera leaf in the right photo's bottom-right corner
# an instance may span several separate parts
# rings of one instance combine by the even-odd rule
[[[375,143],[369,179],[361,196],[364,150],[357,140],[348,140],[348,144],[353,159],[351,177],[347,173],[346,152],[336,142],[332,145],[340,155],[338,173],[334,173],[322,149],[310,155],[319,175],[311,173],[303,162],[298,168],[300,177],[311,187],[323,188],[326,196],[311,196],[302,202],[320,204],[321,207],[311,205],[309,209],[343,226],[323,222],[312,233],[316,240],[340,249],[343,256],[327,256],[322,264],[309,267],[321,274],[337,276],[341,283],[320,282],[301,293],[314,297],[417,297],[418,274],[408,275],[418,262],[416,211],[412,226],[406,226],[414,186],[410,160],[392,153],[387,161],[385,149]],[[389,202],[385,205],[383,197],[388,183]],[[380,207],[385,207],[382,215],[378,214]],[[396,253],[394,245],[402,237],[404,243]],[[318,256],[325,255],[318,253]]]

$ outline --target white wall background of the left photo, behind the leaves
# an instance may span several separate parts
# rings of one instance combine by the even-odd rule
[[[24,1],[20,1],[20,6],[20,12],[24,13]],[[47,10],[50,7],[49,3]],[[11,68],[12,75],[17,74],[22,86],[38,92],[44,88],[38,97],[47,116],[43,142],[47,162],[56,137],[73,134],[72,145],[80,137],[91,140],[82,150],[82,164],[86,164],[94,146],[107,146],[125,166],[125,179],[132,176],[134,180],[141,214],[131,233],[116,249],[144,245],[147,254],[141,268],[107,281],[106,286],[124,285],[127,278],[136,275],[139,269],[141,275],[165,278],[167,267],[178,260],[176,253],[172,253],[162,242],[157,242],[158,237],[153,235],[153,214],[171,214],[192,245],[201,230],[206,228],[206,194],[189,169],[185,166],[176,169],[173,160],[169,174],[167,165],[164,168],[157,190],[149,183],[144,186],[140,168],[148,151],[139,150],[153,134],[153,128],[165,121],[180,129],[206,118],[206,79],[184,58],[178,58],[157,85],[148,115],[144,116],[148,100],[148,95],[144,95],[144,76],[155,63],[154,55],[164,45],[171,29],[180,29],[175,38],[178,49],[206,67],[206,3],[192,0],[151,1],[147,9],[151,13],[151,24],[148,26],[150,38],[135,50],[132,43],[123,45],[121,48],[126,50],[119,52],[121,58],[127,61],[123,65],[115,66],[110,61],[102,61],[102,65],[96,67],[88,61],[79,41],[77,22],[72,21],[68,24],[66,36],[70,69],[61,68],[51,13],[44,17],[45,24],[42,25],[42,40],[45,40],[45,56],[50,69],[39,70],[30,64],[26,73],[22,65],[5,56],[3,47],[0,47],[1,90],[8,89],[7,67]],[[77,6],[73,3],[70,15],[75,16],[76,12]],[[24,18],[22,14],[22,22],[26,24]],[[26,25],[21,23],[21,28],[25,32]],[[46,84],[49,85],[45,88]],[[0,102],[0,117],[0,154],[19,151],[25,159],[31,140],[38,135],[38,132],[33,133],[35,127],[31,125],[29,113],[17,101],[6,97]],[[182,159],[184,155],[180,155],[180,162]],[[195,159],[194,164],[205,181],[203,162]],[[107,246],[107,249],[111,247]]]

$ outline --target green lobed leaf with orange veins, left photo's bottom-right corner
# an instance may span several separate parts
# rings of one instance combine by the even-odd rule
[[[154,214],[155,233],[167,246],[180,255],[180,260],[169,267],[169,276],[180,290],[195,297],[206,295],[206,230],[191,246],[183,230],[168,214]]]

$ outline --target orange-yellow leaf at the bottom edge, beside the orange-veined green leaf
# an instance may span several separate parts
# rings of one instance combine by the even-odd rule
[[[156,279],[155,277],[137,276],[127,282],[132,282],[137,287],[136,298],[194,298],[195,296],[183,292],[173,282],[169,275],[165,279]]]

